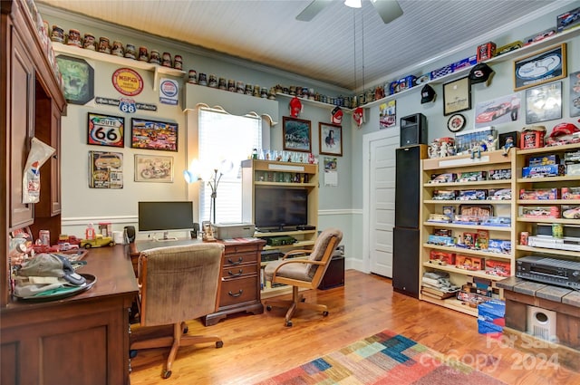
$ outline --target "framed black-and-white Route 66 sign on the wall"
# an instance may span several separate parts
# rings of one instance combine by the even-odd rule
[[[89,112],[87,144],[124,147],[125,119],[119,116]]]

